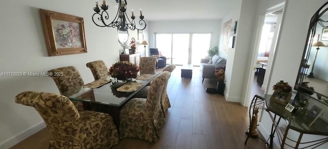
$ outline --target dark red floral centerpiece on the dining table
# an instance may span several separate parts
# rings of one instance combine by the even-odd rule
[[[139,72],[139,67],[129,61],[119,61],[114,63],[109,68],[109,75],[118,80],[127,80],[129,78],[136,78]]]

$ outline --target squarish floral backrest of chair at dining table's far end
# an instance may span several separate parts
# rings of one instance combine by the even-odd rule
[[[140,74],[155,74],[156,57],[141,57],[139,63]]]

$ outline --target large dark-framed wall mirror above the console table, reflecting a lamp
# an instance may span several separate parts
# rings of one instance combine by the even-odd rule
[[[328,2],[310,20],[295,90],[328,101]]]

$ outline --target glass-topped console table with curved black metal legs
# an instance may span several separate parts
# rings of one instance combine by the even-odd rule
[[[255,107],[267,111],[270,115],[270,118],[272,119],[273,123],[271,127],[271,134],[268,139],[268,141],[270,140],[270,142],[267,141],[265,142],[265,144],[269,144],[270,148],[272,148],[273,138],[275,137],[275,134],[277,135],[281,148],[284,148],[284,145],[293,148],[299,148],[300,144],[306,145],[303,148],[315,148],[328,142],[328,137],[313,141],[301,142],[303,134],[328,136],[328,124],[321,119],[317,119],[311,126],[309,126],[309,124],[313,121],[313,118],[311,118],[309,115],[289,112],[285,109],[284,105],[279,104],[275,101],[270,101],[271,96],[272,95],[267,94],[255,95],[252,99],[249,109],[250,126],[252,125],[251,116],[254,113]],[[284,119],[288,122],[285,131],[283,131],[281,127],[279,127],[279,122],[281,119]],[[299,132],[297,140],[293,140],[288,137],[288,132],[290,129]],[[244,142],[245,144],[247,143],[249,137],[250,135],[247,136],[247,139]],[[286,140],[292,141],[293,145],[286,143]]]

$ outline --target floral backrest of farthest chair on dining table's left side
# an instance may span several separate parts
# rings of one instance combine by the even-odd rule
[[[90,68],[95,80],[108,77],[109,69],[103,60],[96,60],[87,63],[87,67]]]

